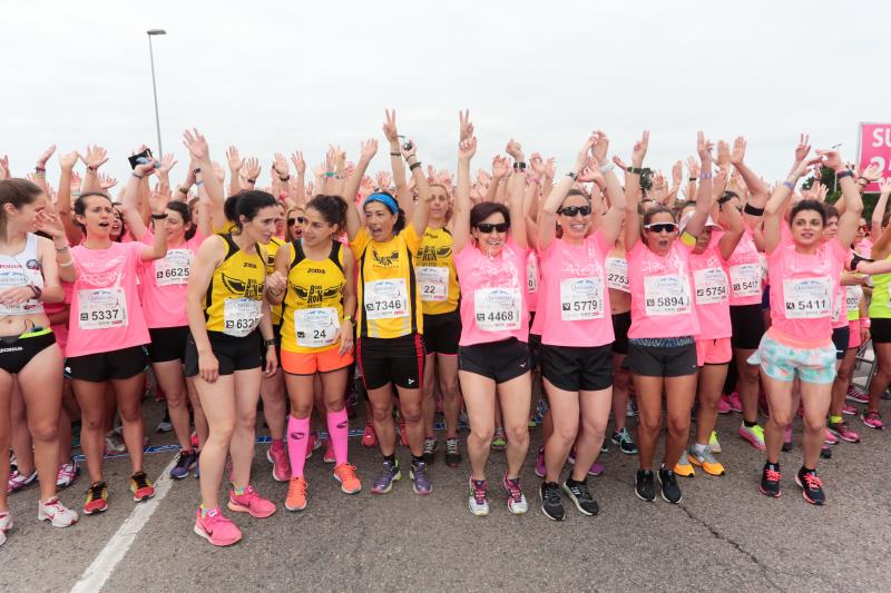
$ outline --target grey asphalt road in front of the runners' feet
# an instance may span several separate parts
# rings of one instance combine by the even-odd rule
[[[883,403],[887,406],[888,403]],[[147,402],[154,427],[160,404]],[[530,512],[513,516],[503,492],[491,488],[491,513],[467,510],[468,466],[449,468],[438,458],[433,493],[412,493],[404,476],[393,492],[371,494],[379,454],[351,439],[351,456],[365,490],[340,492],[317,452],[306,465],[310,505],[288,513],[286,484],[272,480],[265,445],[257,446],[254,483],[280,503],[266,520],[237,516],[244,540],[215,548],[193,531],[197,480],[172,484],[167,496],[105,582],[104,591],[542,591],[542,590],[821,590],[877,591],[891,587],[885,569],[891,550],[891,510],[884,471],[891,456],[887,434],[853,421],[862,443],[833,447],[822,462],[829,504],[813,507],[801,497],[794,471],[796,446],[783,455],[783,496],[756,490],[761,453],[735,435],[738,415],[719,418],[727,475],[697,475],[682,482],[684,502],[644,503],[633,493],[636,457],[613,448],[601,456],[606,473],[590,477],[600,514],[586,517],[567,506],[555,523],[539,508],[532,462],[523,470]],[[353,421],[353,427],[361,426]],[[795,439],[801,427],[796,421]],[[537,447],[539,431],[533,431]],[[172,435],[151,435],[168,444]],[[403,466],[409,453],[399,448]],[[172,452],[147,455],[146,471],[159,476]],[[503,472],[493,454],[490,481]],[[66,530],[37,521],[36,488],[10,498],[16,528],[0,547],[0,590],[68,591],[135,508],[127,491],[128,462],[107,461],[111,487],[108,512],[81,516]],[[80,510],[87,480],[61,494]],[[107,556],[104,556],[107,557]]]

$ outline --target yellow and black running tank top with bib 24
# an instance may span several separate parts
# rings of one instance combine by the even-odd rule
[[[291,241],[282,349],[298,353],[336,348],[343,322],[343,251],[332,241],[327,258],[307,259],[302,241]]]

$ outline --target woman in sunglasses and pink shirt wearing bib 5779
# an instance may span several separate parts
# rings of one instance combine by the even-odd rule
[[[625,218],[625,195],[613,172],[615,166],[607,159],[608,146],[604,132],[593,135],[539,215],[538,249],[545,280],[545,298],[538,309],[544,317],[541,375],[554,422],[545,445],[540,498],[541,511],[555,521],[565,516],[560,490],[580,513],[596,515],[599,511],[586,478],[600,453],[613,404],[614,334],[606,257]],[[596,229],[593,208],[601,208],[599,199],[593,204],[587,195],[572,189],[586,166],[603,176],[609,198],[609,209]],[[560,238],[555,236],[557,225],[562,229]],[[560,472],[574,443],[575,466],[560,486]]]

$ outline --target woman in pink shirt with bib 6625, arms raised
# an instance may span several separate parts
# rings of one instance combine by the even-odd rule
[[[183,480],[198,463],[198,453],[192,447],[188,391],[183,373],[188,337],[186,284],[195,251],[210,231],[210,221],[205,215],[204,228],[194,229],[188,206],[184,201],[169,201],[165,210],[167,217],[157,220],[153,231],[146,228],[139,214],[137,197],[125,192],[121,204],[124,219],[133,237],[146,244],[154,243],[155,231],[163,233],[167,237],[167,254],[164,258],[139,268],[139,291],[143,314],[151,338],[148,344],[148,357],[158,387],[164,391],[170,424],[179,442],[179,455],[176,465],[170,468],[170,477]],[[196,409],[195,425],[199,443],[203,443],[207,437],[207,421],[200,411],[197,394],[193,405]]]

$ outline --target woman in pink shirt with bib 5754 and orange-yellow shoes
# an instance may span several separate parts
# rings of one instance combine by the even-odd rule
[[[697,196],[696,200],[712,200],[712,196]],[[717,423],[717,403],[727,378],[727,367],[733,358],[731,348],[730,280],[725,271],[727,259],[743,236],[744,223],[740,211],[731,204],[733,195],[728,191],[718,198],[717,207],[727,224],[726,229],[715,224],[711,217],[696,237],[696,247],[689,256],[689,271],[693,280],[693,300],[699,318],[699,334],[696,336],[696,364],[699,367],[697,379],[696,435],[688,453],[681,455],[675,473],[693,476],[693,465],[702,467],[708,475],[723,475],[724,466],[715,458],[708,441]],[[683,233],[693,214],[681,220]]]

